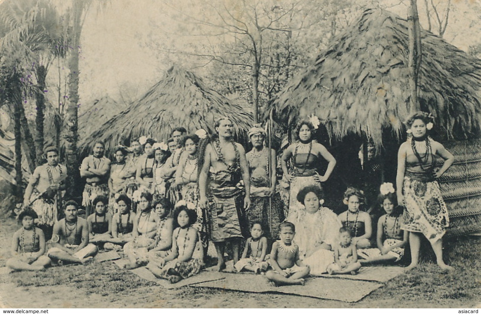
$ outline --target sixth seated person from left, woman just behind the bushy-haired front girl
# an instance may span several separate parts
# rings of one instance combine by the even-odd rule
[[[169,254],[172,247],[172,232],[174,231],[174,219],[169,217],[171,205],[168,198],[161,198],[154,203],[155,213],[159,216],[155,241],[147,248],[149,250],[149,262],[158,262]]]

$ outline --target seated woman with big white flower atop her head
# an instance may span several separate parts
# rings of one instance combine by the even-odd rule
[[[407,243],[408,232],[401,230],[403,208],[397,206],[397,197],[392,183],[383,183],[380,187],[378,203],[386,214],[378,221],[376,235],[377,249],[361,249],[359,257],[361,264],[375,262],[398,262],[404,256],[404,246]],[[384,239],[384,241],[383,241]]]

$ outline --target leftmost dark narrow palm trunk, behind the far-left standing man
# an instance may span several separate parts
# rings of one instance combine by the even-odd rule
[[[15,78],[14,78],[15,80]],[[22,189],[22,131],[20,127],[20,108],[22,108],[22,97],[20,86],[17,82],[13,82],[13,97],[15,101],[13,103],[13,134],[15,135],[15,202],[21,203],[23,200]]]

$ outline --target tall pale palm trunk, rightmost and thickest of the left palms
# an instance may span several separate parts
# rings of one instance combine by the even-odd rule
[[[74,0],[74,23],[72,51],[68,61],[70,74],[68,77],[68,103],[65,110],[65,118],[63,124],[63,140],[65,143],[65,163],[67,166],[67,194],[72,197],[78,192],[80,173],[78,170],[77,142],[78,142],[78,59],[80,53],[80,32],[82,0]]]

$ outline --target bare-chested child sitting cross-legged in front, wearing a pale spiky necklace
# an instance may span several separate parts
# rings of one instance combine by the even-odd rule
[[[299,259],[299,247],[292,241],[295,226],[292,222],[282,222],[279,230],[280,240],[272,245],[269,259],[274,270],[268,271],[266,277],[276,285],[304,285],[310,269]]]

